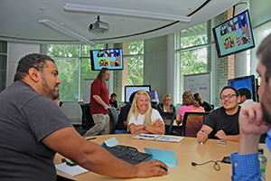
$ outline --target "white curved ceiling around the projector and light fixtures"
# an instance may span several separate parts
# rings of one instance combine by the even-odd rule
[[[175,33],[201,24],[226,11],[239,0],[0,0],[0,40],[23,43],[79,43],[68,35],[39,23],[50,19],[94,43],[122,43]],[[190,23],[108,14],[66,12],[66,3],[98,5],[164,14],[190,15]],[[196,11],[201,5],[200,10]],[[46,10],[42,13],[41,8]],[[195,12],[196,11],[196,12]],[[195,12],[195,13],[194,13]],[[38,14],[37,14],[38,13]],[[36,15],[35,15],[36,14]],[[89,24],[100,20],[107,33],[89,33]]]

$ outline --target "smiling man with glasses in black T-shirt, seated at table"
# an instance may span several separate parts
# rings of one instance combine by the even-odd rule
[[[238,115],[240,100],[238,90],[231,86],[224,87],[220,92],[222,107],[210,112],[197,134],[199,142],[208,138],[239,141]]]

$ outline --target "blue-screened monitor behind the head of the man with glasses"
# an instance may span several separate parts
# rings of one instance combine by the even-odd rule
[[[257,101],[257,84],[254,75],[230,79],[228,85],[237,90],[247,88],[251,92],[251,99]]]

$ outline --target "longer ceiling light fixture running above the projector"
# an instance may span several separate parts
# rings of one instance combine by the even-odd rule
[[[132,9],[120,9],[115,7],[104,7],[95,5],[78,5],[78,4],[66,4],[64,5],[65,11],[70,12],[85,12],[85,13],[98,13],[98,14],[117,14],[117,15],[127,15],[135,17],[148,17],[160,20],[171,20],[180,22],[191,22],[191,17],[176,14],[161,14],[154,12],[146,12]]]

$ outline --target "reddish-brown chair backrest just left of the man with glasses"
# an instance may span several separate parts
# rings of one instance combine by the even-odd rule
[[[185,112],[182,121],[182,137],[197,137],[198,131],[210,112]]]

